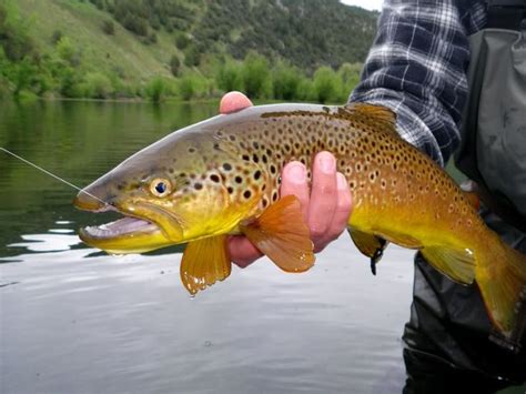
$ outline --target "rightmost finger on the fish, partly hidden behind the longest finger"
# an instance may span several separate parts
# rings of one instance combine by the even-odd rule
[[[351,215],[353,205],[351,189],[348,188],[347,180],[341,172],[336,173],[336,190],[337,202],[333,220],[330,223],[325,235],[318,242],[318,245],[322,249],[325,247],[327,243],[336,240],[340,234],[345,231],[347,228],[348,216]]]

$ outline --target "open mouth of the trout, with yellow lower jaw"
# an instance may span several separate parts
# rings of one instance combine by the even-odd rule
[[[117,208],[109,203],[87,202],[80,195],[73,204],[83,211],[102,213],[115,211],[124,215],[117,221],[85,226],[79,230],[79,238],[88,245],[101,249],[111,254],[143,253],[172,245],[160,224],[145,216],[145,210],[133,206]]]

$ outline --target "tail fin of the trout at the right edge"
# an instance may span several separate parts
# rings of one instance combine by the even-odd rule
[[[507,339],[524,327],[518,313],[526,302],[526,255],[499,239],[489,243],[485,253],[477,255],[476,281],[494,324]]]

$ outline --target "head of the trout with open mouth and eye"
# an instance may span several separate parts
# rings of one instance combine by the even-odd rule
[[[83,189],[77,208],[125,218],[81,229],[81,240],[110,253],[141,253],[232,230],[250,210],[232,206],[223,171],[232,170],[232,155],[194,131],[168,135]]]

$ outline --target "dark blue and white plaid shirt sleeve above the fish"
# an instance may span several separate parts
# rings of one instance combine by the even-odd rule
[[[483,0],[385,0],[350,101],[395,111],[402,138],[444,165],[459,142],[467,36],[485,22]]]

